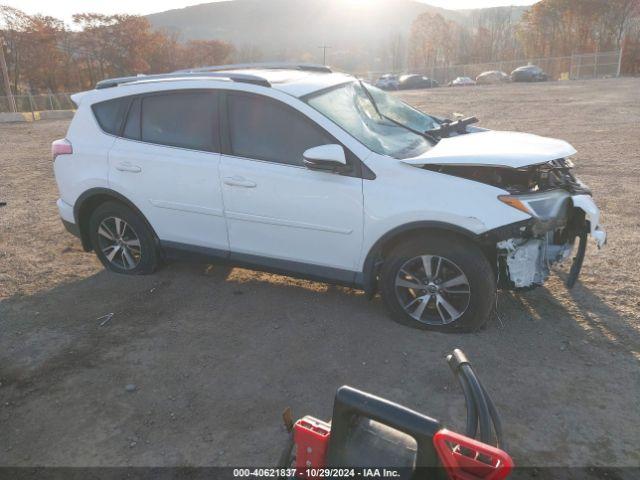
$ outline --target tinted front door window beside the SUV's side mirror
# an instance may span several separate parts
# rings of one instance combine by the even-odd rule
[[[232,155],[303,165],[305,150],[336,143],[301,113],[265,97],[229,95],[228,112]]]

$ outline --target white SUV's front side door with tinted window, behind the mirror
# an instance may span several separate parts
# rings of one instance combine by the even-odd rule
[[[356,168],[343,175],[302,162],[306,149],[338,142],[266,96],[228,92],[226,107],[220,176],[231,257],[351,281],[362,248],[362,179]]]

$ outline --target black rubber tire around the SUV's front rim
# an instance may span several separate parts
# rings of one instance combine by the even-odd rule
[[[464,293],[458,293],[458,295],[464,295],[464,297],[462,297],[463,299],[458,297],[457,300],[464,303],[466,307],[464,310],[462,308],[459,309],[459,313],[462,312],[462,314],[456,319],[453,319],[453,315],[445,313],[445,316],[450,317],[446,319],[450,320],[450,323],[444,323],[444,321],[440,319],[443,323],[437,324],[435,323],[436,320],[429,321],[429,318],[421,318],[419,321],[412,317],[400,303],[400,297],[404,295],[404,292],[408,292],[414,295],[414,297],[429,294],[426,290],[421,291],[421,293],[415,293],[416,290],[409,291],[403,287],[396,287],[396,278],[400,269],[403,266],[407,268],[407,265],[411,265],[411,262],[417,261],[418,257],[426,255],[433,256],[436,262],[438,261],[438,257],[444,259],[443,264],[450,266],[450,272],[455,272],[455,267],[457,267],[458,270],[466,276],[467,286],[461,288],[468,289],[469,293],[466,295]],[[405,270],[403,270],[403,272],[404,271]],[[404,273],[402,275],[404,275]],[[455,275],[457,274],[452,274],[452,276]],[[413,280],[411,281],[413,282]],[[439,280],[434,280],[434,282],[437,283]],[[425,288],[427,287],[425,286]],[[437,288],[437,286],[434,288]],[[496,295],[496,279],[494,270],[487,260],[487,257],[482,250],[471,241],[456,236],[455,234],[424,235],[398,244],[385,257],[380,272],[380,293],[383,303],[391,313],[393,319],[403,325],[442,332],[471,332],[479,330],[487,322],[493,311]],[[451,297],[448,296],[449,293],[440,291],[439,294],[451,300]],[[412,297],[408,298],[408,304],[412,303],[411,298]],[[434,293],[428,300],[428,306],[424,311],[427,317],[432,315],[434,318],[437,318],[437,315],[440,317],[443,315],[441,313],[443,309],[440,308],[441,304],[435,305],[436,298],[440,297],[437,297]],[[431,299],[433,299],[433,301]],[[450,302],[449,306],[451,306],[451,303],[453,302]],[[448,312],[448,309],[445,310]],[[416,314],[415,311],[413,313]],[[417,315],[422,317],[424,313],[421,312]]]

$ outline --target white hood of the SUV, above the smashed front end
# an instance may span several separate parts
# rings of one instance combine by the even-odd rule
[[[411,165],[488,165],[521,168],[576,153],[564,140],[530,133],[484,130],[443,138],[419,157],[401,160]]]

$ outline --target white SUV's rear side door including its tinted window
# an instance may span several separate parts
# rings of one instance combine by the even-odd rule
[[[166,247],[228,251],[218,169],[218,93],[134,97],[109,152],[109,183],[129,198]]]

